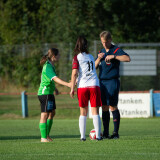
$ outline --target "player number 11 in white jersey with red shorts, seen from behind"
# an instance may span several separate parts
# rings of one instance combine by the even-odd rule
[[[77,81],[77,96],[80,107],[79,129],[81,134],[81,141],[85,141],[86,133],[86,119],[88,112],[88,102],[91,103],[91,111],[93,115],[93,125],[96,130],[97,140],[102,140],[101,133],[101,119],[99,116],[99,107],[101,106],[101,93],[99,87],[99,80],[95,69],[95,60],[87,50],[87,40],[80,36],[77,39],[75,49],[75,56],[72,64],[71,76],[71,91],[70,96],[74,96],[74,88]]]

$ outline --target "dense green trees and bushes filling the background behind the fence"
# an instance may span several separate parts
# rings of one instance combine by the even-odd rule
[[[158,42],[159,7],[157,0],[2,0],[0,45],[11,46],[0,51],[0,76],[25,87],[39,82],[39,54],[24,59],[15,52],[15,44],[75,44],[78,35],[92,42],[103,30],[111,31],[115,43]],[[71,53],[68,48],[60,49]],[[57,66],[60,73],[61,64]]]

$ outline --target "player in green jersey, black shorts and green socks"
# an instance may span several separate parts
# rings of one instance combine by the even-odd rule
[[[56,48],[50,48],[48,53],[42,57],[40,64],[43,65],[41,74],[41,83],[38,90],[38,99],[41,105],[41,118],[39,128],[41,132],[41,142],[50,142],[52,139],[49,133],[55,116],[55,97],[53,92],[57,91],[55,82],[70,87],[67,83],[57,77],[54,63],[59,60],[59,51]]]

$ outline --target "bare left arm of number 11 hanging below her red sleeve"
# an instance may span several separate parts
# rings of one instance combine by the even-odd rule
[[[70,91],[71,98],[73,98],[73,96],[74,96],[74,87],[76,85],[77,75],[78,75],[78,69],[73,69],[72,76],[71,76],[71,91]]]

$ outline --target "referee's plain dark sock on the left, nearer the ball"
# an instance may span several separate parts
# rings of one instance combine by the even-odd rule
[[[110,122],[110,113],[109,111],[102,112],[102,120],[103,120],[103,134],[109,135],[109,122]]]

